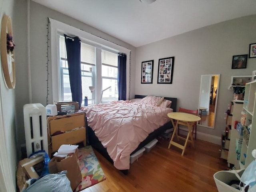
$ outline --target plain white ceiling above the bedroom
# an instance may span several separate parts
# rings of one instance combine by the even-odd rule
[[[33,0],[139,47],[256,14],[256,0]],[[239,30],[239,26],[238,26]]]

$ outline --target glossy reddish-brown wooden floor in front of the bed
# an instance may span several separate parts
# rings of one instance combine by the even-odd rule
[[[106,175],[106,180],[83,192],[218,192],[213,174],[228,170],[226,160],[220,159],[220,146],[202,140],[195,148],[182,150],[162,140],[149,152],[130,164],[128,175],[116,170],[94,150]]]

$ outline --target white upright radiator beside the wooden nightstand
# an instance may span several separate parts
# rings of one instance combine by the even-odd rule
[[[46,108],[40,103],[23,106],[27,156],[45,150],[48,154]]]

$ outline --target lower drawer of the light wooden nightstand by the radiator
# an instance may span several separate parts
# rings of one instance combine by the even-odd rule
[[[85,127],[78,130],[52,136],[52,151],[57,151],[62,144],[76,144],[86,140]]]

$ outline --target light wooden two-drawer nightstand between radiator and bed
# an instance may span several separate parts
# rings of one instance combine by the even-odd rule
[[[47,125],[49,155],[62,144],[83,142],[86,146],[85,113],[49,117]],[[58,131],[65,133],[54,135]]]

